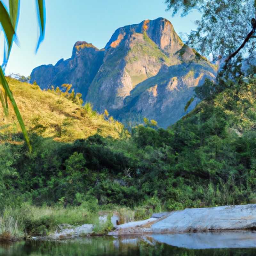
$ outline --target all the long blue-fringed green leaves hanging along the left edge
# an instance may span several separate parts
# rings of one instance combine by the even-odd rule
[[[45,31],[45,3],[44,0],[36,0],[37,6],[37,14],[38,14],[38,23],[40,28],[40,36],[38,39],[38,44],[36,47],[36,51],[42,40],[44,39],[44,31]],[[7,65],[10,52],[12,49],[12,43],[16,39],[16,28],[18,24],[20,10],[20,0],[9,0],[9,12],[7,8],[4,6],[3,2],[0,0],[0,29],[3,29],[5,36],[5,47],[4,47],[4,60],[3,65],[0,67],[0,101],[2,107],[4,109],[4,114],[8,116],[8,98],[13,106],[15,114],[20,124],[21,131],[24,135],[25,141],[28,145],[28,150],[31,152],[32,148],[28,139],[28,133],[26,131],[25,124],[20,115],[19,108],[16,104],[16,101],[12,95],[10,87],[4,76],[4,69]]]

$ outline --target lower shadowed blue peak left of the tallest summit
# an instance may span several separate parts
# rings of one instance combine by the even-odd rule
[[[86,95],[103,58],[104,49],[99,50],[92,44],[78,41],[73,47],[70,59],[61,59],[55,66],[42,65],[34,68],[30,82],[36,81],[42,89],[48,89],[52,85],[56,88],[62,84],[72,84],[75,92]]]

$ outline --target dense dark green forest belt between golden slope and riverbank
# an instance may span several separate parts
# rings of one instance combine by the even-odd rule
[[[206,81],[196,94],[204,100],[167,130],[148,122],[120,138],[96,133],[73,142],[30,132],[32,153],[18,143],[21,133],[2,133],[0,209],[125,206],[146,218],[255,203],[256,79]]]

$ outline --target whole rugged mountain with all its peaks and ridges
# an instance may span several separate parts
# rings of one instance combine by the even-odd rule
[[[126,123],[148,117],[167,127],[185,115],[194,87],[216,71],[182,42],[169,20],[158,18],[118,28],[101,50],[76,42],[70,59],[35,68],[31,82],[41,88],[72,84],[100,113],[107,109]]]

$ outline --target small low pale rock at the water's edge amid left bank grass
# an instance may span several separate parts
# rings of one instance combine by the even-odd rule
[[[82,226],[72,226],[69,224],[61,224],[58,226],[56,232],[51,234],[49,238],[51,239],[68,239],[75,238],[79,236],[85,236],[92,234],[94,225],[84,224]]]

